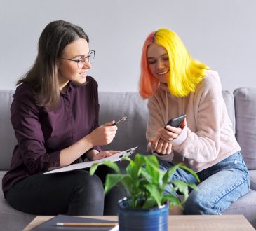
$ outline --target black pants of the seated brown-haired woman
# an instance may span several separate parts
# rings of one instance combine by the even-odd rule
[[[58,174],[34,174],[15,183],[6,192],[6,200],[15,209],[36,215],[116,215],[117,202],[124,192],[113,188],[104,196],[106,166],[93,176],[75,170]]]

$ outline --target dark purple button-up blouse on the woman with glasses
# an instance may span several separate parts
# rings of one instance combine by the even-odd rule
[[[27,83],[19,85],[11,104],[18,144],[3,178],[3,191],[26,176],[60,166],[60,151],[98,127],[99,108],[97,82],[90,76],[83,86],[69,82],[67,94],[60,93],[60,105],[50,112],[36,106],[35,93]],[[93,148],[101,151],[99,146]]]

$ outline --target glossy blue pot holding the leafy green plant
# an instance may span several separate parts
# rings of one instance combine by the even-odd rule
[[[152,209],[128,207],[128,199],[119,201],[120,231],[167,231],[169,206],[165,204]]]

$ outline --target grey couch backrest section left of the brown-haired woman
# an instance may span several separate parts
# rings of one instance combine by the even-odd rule
[[[0,90],[0,170],[9,169],[13,156],[13,148],[16,144],[13,127],[10,121],[10,106],[13,101],[13,93],[13,90]]]

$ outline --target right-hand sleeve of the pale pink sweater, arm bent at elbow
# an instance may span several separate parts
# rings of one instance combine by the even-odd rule
[[[207,76],[195,92],[194,110],[196,132],[187,125],[187,139],[173,144],[173,150],[196,162],[210,162],[220,151],[220,128],[222,123],[222,89],[217,76]]]

